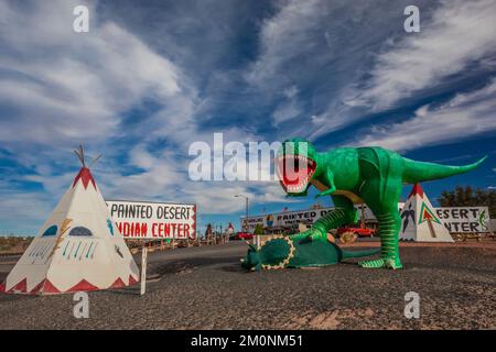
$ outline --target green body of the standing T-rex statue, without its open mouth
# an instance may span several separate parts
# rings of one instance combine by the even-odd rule
[[[365,202],[379,221],[381,255],[378,260],[360,262],[362,267],[401,268],[398,250],[400,217],[398,201],[403,184],[444,178],[476,168],[487,156],[466,166],[444,166],[416,162],[396,152],[377,146],[339,147],[317,153],[310,142],[300,139],[285,141],[278,158],[301,155],[315,162],[316,167],[303,190],[291,191],[283,180],[281,185],[289,196],[305,196],[311,184],[330,195],[335,209],[315,221],[305,232],[293,234],[293,241],[327,241],[327,231],[355,222],[354,201]],[[279,167],[280,175],[282,170]]]

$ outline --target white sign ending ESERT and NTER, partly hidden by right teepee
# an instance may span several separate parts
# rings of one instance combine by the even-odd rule
[[[487,207],[436,208],[435,211],[450,233],[490,231]]]

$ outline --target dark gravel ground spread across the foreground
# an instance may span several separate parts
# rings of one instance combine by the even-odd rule
[[[246,273],[245,252],[238,242],[151,253],[147,294],[89,293],[89,319],[73,317],[72,295],[0,294],[0,329],[496,329],[495,241],[402,244],[402,271]],[[0,282],[11,267],[0,261]],[[408,292],[420,295],[419,319],[403,316]]]

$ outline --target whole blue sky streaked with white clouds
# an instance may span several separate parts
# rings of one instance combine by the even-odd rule
[[[73,31],[86,4],[89,33]],[[420,33],[403,9],[420,9]],[[302,209],[277,183],[187,177],[195,141],[381,145],[477,170],[423,185],[496,186],[496,2],[0,0],[0,233],[35,233],[104,154],[107,199],[196,202],[201,228]],[[403,191],[408,194],[409,188]],[[330,200],[320,200],[330,205]]]

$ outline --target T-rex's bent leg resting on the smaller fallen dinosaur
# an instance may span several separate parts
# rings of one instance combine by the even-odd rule
[[[309,231],[293,234],[293,241],[298,240],[325,240],[327,241],[327,231],[336,229],[342,224],[356,222],[357,212],[353,202],[344,196],[332,196],[335,208],[315,221]]]

